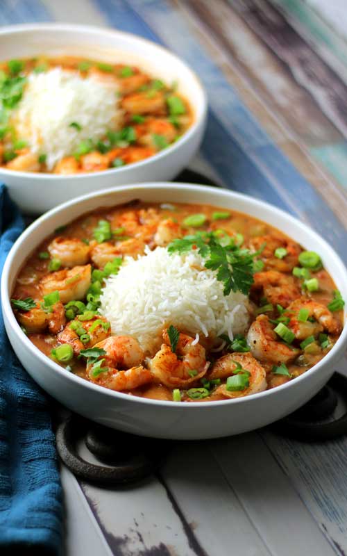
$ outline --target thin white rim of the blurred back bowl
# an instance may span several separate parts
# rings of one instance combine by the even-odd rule
[[[22,172],[21,170],[8,170],[8,168],[0,167],[0,176],[18,176],[22,179],[30,178],[30,179],[37,179],[38,181],[42,180],[52,180],[52,181],[59,181],[64,179],[74,179],[74,181],[81,181],[82,179],[91,179],[92,177],[100,177],[108,173],[108,175],[113,175],[117,172],[117,175],[124,174],[129,171],[129,169],[139,169],[141,170],[144,166],[149,165],[152,161],[160,161],[171,154],[174,154],[178,151],[181,147],[183,147],[189,140],[194,136],[196,131],[200,128],[201,125],[204,124],[207,113],[208,113],[208,96],[203,84],[201,83],[201,79],[198,78],[198,75],[192,67],[190,67],[185,60],[176,56],[174,52],[170,49],[163,47],[162,44],[157,44],[156,42],[143,38],[141,35],[135,35],[135,33],[128,33],[126,31],[119,31],[118,29],[108,27],[108,26],[96,26],[96,25],[83,25],[83,24],[69,24],[69,23],[59,23],[59,22],[49,22],[49,23],[28,23],[28,24],[17,24],[17,25],[7,25],[0,28],[0,38],[2,35],[13,35],[16,33],[22,33],[25,31],[79,31],[81,33],[105,33],[106,35],[118,35],[120,37],[128,38],[129,40],[133,40],[135,42],[144,42],[146,44],[151,45],[151,47],[155,47],[162,51],[164,55],[169,55],[172,58],[175,58],[180,64],[185,66],[185,69],[191,74],[192,78],[196,81],[196,85],[198,86],[199,92],[201,94],[201,113],[200,115],[195,115],[195,119],[191,126],[183,133],[180,138],[171,143],[169,147],[162,149],[161,151],[149,156],[148,158],[144,158],[144,160],[139,162],[130,163],[128,165],[124,165],[118,168],[108,168],[108,170],[101,170],[99,172],[81,172],[81,174],[51,174],[49,172]],[[194,106],[194,102],[192,99],[188,99],[189,104]]]

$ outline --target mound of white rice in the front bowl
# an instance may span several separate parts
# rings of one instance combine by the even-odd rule
[[[127,257],[118,275],[107,279],[100,312],[112,334],[130,334],[151,350],[166,325],[232,339],[248,325],[246,304],[242,293],[223,295],[223,284],[203,267],[201,256],[157,247],[138,259]]]

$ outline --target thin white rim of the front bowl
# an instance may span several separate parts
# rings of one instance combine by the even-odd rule
[[[155,400],[152,398],[141,398],[139,396],[133,396],[127,393],[106,389],[103,386],[99,386],[98,384],[93,384],[92,382],[89,382],[82,377],[78,377],[78,375],[74,375],[73,373],[67,373],[65,368],[62,368],[60,365],[58,365],[58,363],[56,363],[52,359],[49,359],[49,357],[43,354],[33,343],[31,343],[29,338],[22,332],[22,329],[19,326],[19,322],[17,322],[17,319],[15,318],[15,313],[12,311],[12,306],[10,304],[10,292],[8,290],[10,268],[12,263],[15,261],[17,257],[17,252],[20,249],[20,245],[24,240],[26,240],[26,238],[28,238],[28,236],[31,236],[31,233],[35,231],[37,228],[39,228],[42,223],[46,222],[47,220],[50,220],[53,216],[57,215],[58,213],[63,214],[65,210],[67,208],[70,208],[71,206],[78,206],[78,204],[80,204],[81,202],[85,202],[89,199],[96,200],[99,197],[103,197],[104,195],[108,195],[108,196],[113,194],[117,195],[117,193],[127,193],[128,191],[131,193],[135,193],[135,195],[137,195],[137,191],[140,192],[141,190],[148,190],[149,188],[153,190],[167,190],[169,194],[174,193],[175,190],[178,192],[181,190],[186,191],[187,188],[195,191],[197,195],[201,195],[201,193],[208,191],[209,193],[214,193],[214,194],[217,193],[217,195],[220,195],[221,200],[223,199],[223,197],[228,197],[228,198],[231,197],[231,199],[239,199],[243,202],[251,203],[253,206],[260,209],[262,208],[265,208],[267,210],[271,209],[273,213],[277,213],[277,215],[285,217],[287,220],[289,220],[289,222],[293,223],[297,228],[299,227],[303,231],[306,232],[308,231],[309,234],[314,236],[316,240],[318,240],[322,245],[324,245],[325,249],[329,250],[332,259],[335,259],[335,263],[337,263],[337,265],[339,266],[339,270],[341,270],[341,272],[343,272],[344,274],[344,280],[346,281],[346,290],[347,290],[347,268],[344,265],[344,262],[341,260],[340,256],[337,254],[337,252],[335,252],[335,250],[332,247],[330,247],[328,242],[325,239],[323,239],[319,234],[317,234],[316,231],[314,231],[309,226],[307,226],[307,224],[304,224],[303,222],[301,222],[291,214],[283,211],[281,208],[278,208],[273,204],[262,201],[260,199],[255,199],[254,197],[251,197],[250,195],[245,195],[244,193],[237,193],[235,191],[231,191],[224,188],[214,188],[212,186],[205,186],[202,184],[195,184],[195,183],[147,182],[147,183],[134,183],[127,186],[118,186],[110,189],[106,188],[94,193],[88,193],[87,195],[81,195],[80,197],[76,197],[65,203],[60,204],[55,208],[51,208],[50,211],[41,215],[39,218],[37,218],[37,220],[35,220],[32,224],[30,224],[28,228],[24,230],[24,232],[19,236],[19,238],[17,238],[15,243],[12,245],[10,252],[8,253],[5,264],[3,265],[3,272],[1,276],[1,306],[3,310],[3,314],[6,315],[6,318],[8,319],[8,325],[11,327],[12,332],[16,334],[17,339],[19,341],[22,341],[22,343],[24,343],[25,347],[31,352],[31,354],[34,357],[38,357],[38,359],[40,359],[40,361],[44,363],[46,366],[49,366],[52,370],[60,373],[63,379],[67,379],[68,382],[69,380],[71,380],[72,382],[75,382],[77,386],[79,384],[81,385],[82,388],[84,387],[90,389],[91,391],[95,391],[96,394],[99,393],[99,395],[106,395],[111,399],[113,398],[114,400],[120,398],[122,402],[128,401],[137,404],[150,404],[150,405],[154,404],[155,406],[158,407],[170,407],[171,409],[182,409],[183,407],[185,408],[192,408],[192,407],[211,408],[214,406],[221,407],[225,404],[239,404],[239,403],[250,402],[255,398],[259,400],[260,398],[268,398],[268,397],[271,398],[274,395],[276,395],[276,392],[278,391],[284,391],[285,389],[293,389],[295,388],[295,386],[298,386],[298,384],[301,384],[301,382],[309,380],[313,373],[316,373],[316,371],[321,369],[323,366],[326,366],[327,363],[329,363],[329,361],[337,357],[339,352],[344,350],[344,347],[346,347],[347,345],[346,312],[344,313],[344,317],[345,317],[344,327],[341,331],[339,338],[337,339],[337,342],[332,347],[330,352],[328,352],[323,357],[323,359],[321,359],[321,361],[316,363],[316,365],[312,366],[310,369],[305,371],[305,373],[303,373],[299,377],[296,377],[294,380],[291,380],[285,384],[281,384],[280,386],[276,386],[276,388],[265,390],[259,393],[250,394],[241,398],[231,398],[227,400],[216,400],[211,402],[194,402],[194,403],[183,403],[183,404],[175,404],[171,400],[168,401],[168,400]],[[197,199],[197,201],[199,200],[201,199]],[[116,205],[117,202],[115,202],[115,206]],[[98,205],[96,202],[95,208],[97,208],[98,206],[102,206],[102,205]],[[80,215],[82,214],[83,212],[81,212]],[[80,215],[77,215],[71,221],[75,220],[75,218],[78,218]],[[260,218],[260,220],[262,219]]]

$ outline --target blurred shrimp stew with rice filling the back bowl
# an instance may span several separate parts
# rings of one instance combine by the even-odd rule
[[[1,62],[0,166],[81,174],[143,161],[194,121],[179,86],[75,56]]]

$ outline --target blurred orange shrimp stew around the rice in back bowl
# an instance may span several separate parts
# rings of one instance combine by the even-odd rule
[[[109,87],[114,86],[121,114],[117,129],[110,122],[105,137],[81,141],[75,152],[61,158],[51,170],[46,166],[46,153],[31,152],[31,145],[17,136],[11,114],[25,94],[28,75],[48,72],[56,67],[74,72],[83,79],[92,78]],[[176,142],[192,125],[192,107],[176,87],[177,83],[164,83],[140,67],[74,56],[40,56],[2,62],[0,97],[6,96],[7,104],[0,112],[0,165],[23,172],[80,174],[149,158]],[[71,122],[70,126],[80,129],[78,122]]]

